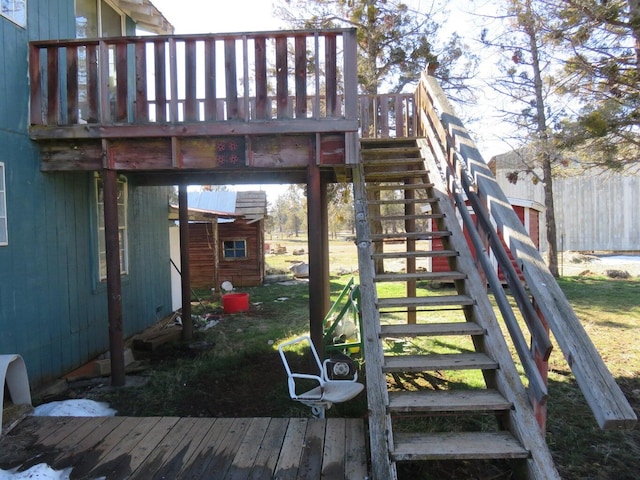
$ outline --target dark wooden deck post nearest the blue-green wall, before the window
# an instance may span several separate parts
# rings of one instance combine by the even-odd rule
[[[104,170],[104,235],[107,257],[107,311],[109,316],[109,354],[111,385],[125,384],[124,334],[122,328],[122,283],[120,279],[120,241],[118,238],[118,174]]]

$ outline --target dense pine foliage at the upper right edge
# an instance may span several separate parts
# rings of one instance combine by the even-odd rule
[[[563,0],[555,40],[570,52],[565,93],[578,102],[560,148],[583,164],[622,169],[640,154],[640,2]]]

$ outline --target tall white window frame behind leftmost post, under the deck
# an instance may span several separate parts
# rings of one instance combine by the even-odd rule
[[[98,284],[104,284],[107,280],[106,266],[106,225],[104,224],[104,184],[102,175],[94,177],[94,201],[95,201],[95,251],[96,280]],[[118,176],[118,196],[122,187],[122,203],[118,200],[118,243],[120,257],[120,276],[129,274],[129,184],[125,176]],[[102,195],[101,195],[102,190]]]

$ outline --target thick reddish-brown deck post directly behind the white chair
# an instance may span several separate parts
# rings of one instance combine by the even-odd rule
[[[322,321],[329,311],[328,214],[324,203],[327,184],[312,159],[307,169],[307,231],[309,236],[309,331],[311,340],[324,356]]]

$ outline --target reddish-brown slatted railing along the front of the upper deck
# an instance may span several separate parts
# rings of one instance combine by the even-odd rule
[[[355,131],[356,63],[354,29],[37,41],[31,125],[296,120],[318,132],[332,120],[326,130]]]

